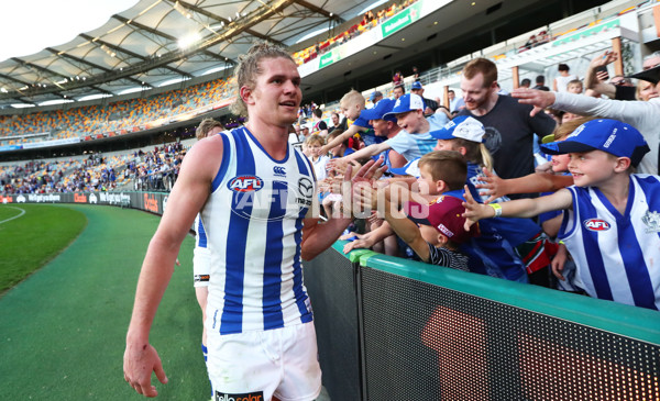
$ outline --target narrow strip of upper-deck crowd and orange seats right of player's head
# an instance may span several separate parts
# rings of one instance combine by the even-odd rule
[[[367,11],[362,15],[362,20],[353,24],[348,30],[339,33],[338,35],[330,37],[326,41],[317,42],[316,44],[306,47],[299,52],[293,54],[294,60],[299,66],[309,63],[312,59],[319,57],[320,55],[331,51],[332,48],[349,42],[350,40],[367,32],[372,27],[378,26],[378,24],[387,21],[396,13],[406,9],[410,4],[415,3],[417,0],[404,0],[400,3],[393,3],[389,7],[386,7],[380,11]]]

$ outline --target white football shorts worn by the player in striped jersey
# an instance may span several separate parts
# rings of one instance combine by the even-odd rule
[[[227,335],[209,331],[207,344],[216,401],[311,401],[321,392],[314,322]]]

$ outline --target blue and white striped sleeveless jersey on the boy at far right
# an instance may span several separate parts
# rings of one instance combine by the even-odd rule
[[[592,297],[660,310],[660,178],[632,175],[624,214],[597,188],[569,187],[559,237]]]

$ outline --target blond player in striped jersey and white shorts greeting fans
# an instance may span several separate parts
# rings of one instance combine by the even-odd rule
[[[200,212],[211,249],[208,369],[215,400],[314,400],[321,390],[316,333],[300,260],[350,223],[312,218],[316,185],[287,142],[300,76],[285,51],[254,45],[235,69],[244,127],[199,141],[186,156],[138,282],[124,379],[157,396],[167,377],[148,335],[179,246]],[[239,110],[240,111],[240,110]]]

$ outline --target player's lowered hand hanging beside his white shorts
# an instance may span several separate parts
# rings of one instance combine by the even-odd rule
[[[158,391],[151,383],[152,371],[158,380],[167,383],[167,376],[156,349],[151,344],[142,347],[127,344],[124,352],[124,380],[139,393],[145,397],[156,397]]]

